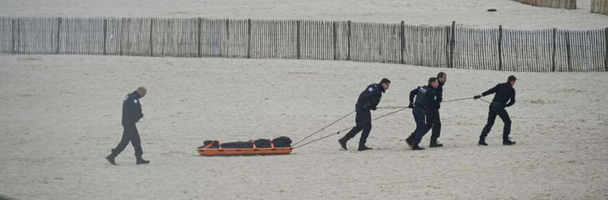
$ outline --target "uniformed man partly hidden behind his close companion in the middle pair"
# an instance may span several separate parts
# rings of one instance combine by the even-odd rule
[[[429,106],[429,109],[426,112],[426,119],[430,121],[429,125],[433,125],[429,128],[433,128],[433,132],[430,135],[430,144],[428,147],[437,148],[444,146],[442,143],[439,143],[437,139],[441,135],[441,119],[439,119],[439,108],[441,108],[441,101],[444,101],[444,84],[448,79],[448,75],[444,72],[439,72],[437,74],[437,81],[439,85],[435,92],[437,93],[437,101],[433,101],[433,103]],[[411,97],[410,97],[411,98]],[[410,101],[411,102],[411,101]]]

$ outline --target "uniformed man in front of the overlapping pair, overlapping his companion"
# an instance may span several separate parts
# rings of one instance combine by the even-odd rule
[[[406,143],[412,150],[424,150],[424,148],[421,148],[418,144],[422,137],[424,137],[424,134],[426,134],[437,121],[436,119],[429,119],[426,113],[431,109],[430,107],[432,105],[439,104],[437,103],[439,100],[439,97],[437,97],[438,86],[439,83],[437,78],[430,77],[427,86],[415,88],[410,92],[410,105],[408,108],[413,108],[412,114],[414,114],[414,120],[416,121],[416,130],[414,130],[414,132],[410,134],[410,137],[406,139]],[[416,97],[416,101],[412,103],[414,96]]]

